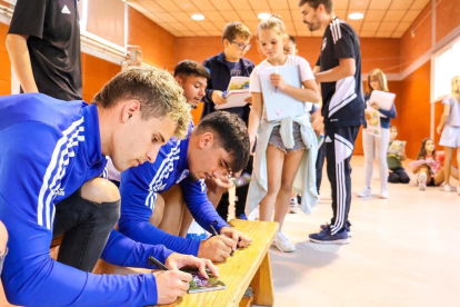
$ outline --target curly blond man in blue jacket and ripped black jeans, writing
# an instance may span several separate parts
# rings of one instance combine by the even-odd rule
[[[186,135],[189,120],[182,90],[156,69],[119,73],[90,106],[41,93],[0,98],[0,220],[9,231],[1,278],[10,303],[143,306],[172,303],[184,294],[191,276],[178,270],[131,276],[88,271],[110,232],[108,245],[128,245],[140,256],[107,254],[111,263],[147,266],[152,255],[171,268],[191,264],[203,270],[209,265],[114,234],[120,196],[98,178],[106,156],[119,170],[153,162],[166,140]],[[60,234],[54,261],[50,242]]]

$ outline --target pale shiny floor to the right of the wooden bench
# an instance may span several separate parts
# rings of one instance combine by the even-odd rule
[[[271,248],[274,306],[460,306],[460,196],[439,187],[419,191],[410,184],[389,185],[389,199],[359,199],[363,157],[354,157],[352,165],[351,244],[308,240],[330,219],[330,200],[321,201],[310,216],[288,215],[283,232],[297,251]],[[326,196],[330,186],[323,178]],[[412,175],[411,179],[414,182]],[[456,180],[451,184],[457,186]]]

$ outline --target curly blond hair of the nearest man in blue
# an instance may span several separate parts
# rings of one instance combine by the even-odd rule
[[[94,96],[98,107],[110,109],[122,100],[138,100],[143,120],[169,119],[178,127],[174,136],[184,138],[191,120],[190,106],[174,78],[157,68],[130,68],[113,77]]]

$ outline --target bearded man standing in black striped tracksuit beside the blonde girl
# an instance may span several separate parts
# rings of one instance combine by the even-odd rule
[[[316,78],[321,82],[326,160],[333,209],[331,225],[322,226],[310,239],[318,244],[348,244],[350,159],[364,111],[360,42],[353,28],[333,14],[332,0],[301,0],[299,7],[310,31],[324,29]]]

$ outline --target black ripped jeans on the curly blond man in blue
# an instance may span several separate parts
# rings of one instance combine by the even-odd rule
[[[92,271],[120,218],[120,200],[94,202],[77,190],[56,205],[53,238],[63,235],[58,261]]]

